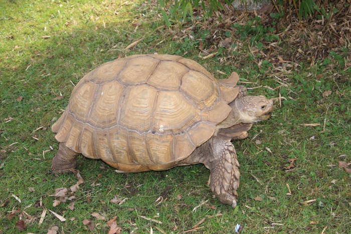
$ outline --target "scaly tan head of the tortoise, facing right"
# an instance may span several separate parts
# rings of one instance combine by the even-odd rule
[[[242,123],[256,123],[271,116],[273,101],[264,96],[244,96],[235,100]],[[235,111],[235,110],[234,110]]]

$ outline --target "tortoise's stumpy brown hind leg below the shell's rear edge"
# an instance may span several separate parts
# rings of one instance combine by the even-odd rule
[[[51,169],[59,173],[71,172],[77,166],[78,154],[67,148],[65,143],[60,142],[59,150],[53,158]]]

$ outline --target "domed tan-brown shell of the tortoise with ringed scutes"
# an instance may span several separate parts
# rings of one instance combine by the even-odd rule
[[[181,56],[117,59],[83,77],[52,130],[69,149],[122,171],[168,169],[213,136],[237,81]]]

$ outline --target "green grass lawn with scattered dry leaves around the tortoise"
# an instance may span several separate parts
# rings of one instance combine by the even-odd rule
[[[134,23],[140,25],[136,28]],[[114,216],[122,233],[149,233],[150,228],[159,233],[156,227],[183,233],[203,218],[198,233],[233,233],[236,223],[246,233],[320,233],[326,226],[324,233],[350,233],[351,177],[338,166],[338,161],[351,162],[351,72],[345,67],[349,49],[339,48],[313,66],[301,62],[294,70],[278,72],[272,61],[251,53],[249,40],[233,37],[239,50],[220,50],[203,60],[198,56],[199,42],[204,48],[212,45],[209,31],[197,30],[194,38],[180,39],[174,37],[177,29],[162,26],[161,14],[142,1],[0,3],[0,233],[20,232],[16,222],[22,211],[34,218],[26,233],[47,233],[53,225],[65,233],[85,233],[89,229],[83,219],[100,223],[94,232],[107,233],[107,220]],[[141,38],[137,46],[124,50]],[[50,169],[58,149],[51,125],[67,105],[71,81],[76,84],[90,70],[118,56],[140,53],[182,55],[218,78],[225,76],[217,70],[236,71],[255,82],[247,87],[262,86],[251,93],[283,97],[281,107],[276,99],[274,116],[255,124],[247,139],[234,142],[241,163],[236,209],[212,197],[207,186],[210,173],[203,165],[120,174],[102,161],[83,157],[77,168],[85,183],[74,193],[75,208],[67,207],[70,201],[53,207],[55,189],[77,181],[73,174],[57,177]],[[228,59],[223,62],[223,58]],[[323,97],[325,91],[331,94]],[[302,125],[308,123],[320,125]],[[289,158],[297,160],[286,171]],[[110,202],[115,196],[128,199],[117,205]],[[156,202],[160,196],[163,201]],[[257,196],[262,200],[255,200]],[[47,211],[39,226],[44,207],[67,220],[61,222]],[[17,209],[20,212],[9,220],[6,215]],[[97,220],[93,212],[106,220]]]

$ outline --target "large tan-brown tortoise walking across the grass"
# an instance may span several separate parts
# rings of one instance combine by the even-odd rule
[[[52,126],[60,142],[52,170],[68,172],[77,155],[123,172],[203,163],[222,203],[237,205],[239,162],[232,139],[270,117],[273,102],[248,96],[239,76],[216,80],[173,55],[119,58],[85,75]]]

